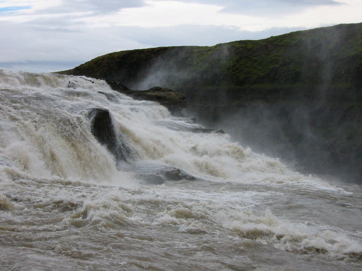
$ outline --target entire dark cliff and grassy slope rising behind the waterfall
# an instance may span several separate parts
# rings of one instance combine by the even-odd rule
[[[362,24],[111,53],[66,74],[187,94],[188,111],[306,171],[361,180]]]

